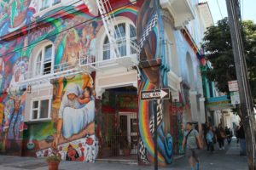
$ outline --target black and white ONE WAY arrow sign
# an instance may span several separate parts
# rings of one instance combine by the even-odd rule
[[[154,100],[154,99],[170,99],[170,89],[155,89],[150,91],[143,91],[141,94],[142,100]]]

